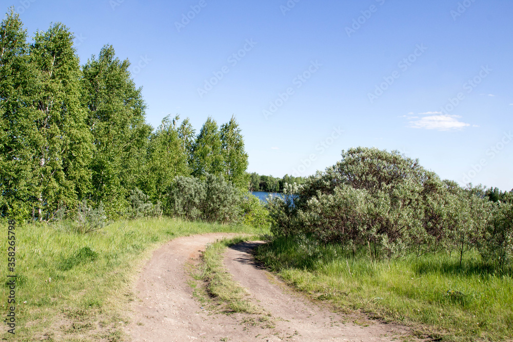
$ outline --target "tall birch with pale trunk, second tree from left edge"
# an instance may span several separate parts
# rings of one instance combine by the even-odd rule
[[[30,46],[30,63],[37,72],[30,119],[35,147],[32,175],[38,209],[74,207],[90,191],[91,135],[81,104],[81,70],[73,49],[73,34],[57,23],[37,32]],[[52,208],[53,207],[53,208]]]

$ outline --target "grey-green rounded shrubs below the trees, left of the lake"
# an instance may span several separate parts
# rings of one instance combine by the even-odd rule
[[[188,220],[231,223],[240,217],[241,194],[224,177],[178,176],[169,188],[167,213]]]

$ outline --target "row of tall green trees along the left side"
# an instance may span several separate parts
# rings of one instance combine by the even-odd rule
[[[235,117],[221,126],[208,117],[196,133],[189,118],[168,115],[153,129],[130,63],[112,46],[81,66],[61,23],[27,38],[11,7],[0,25],[1,217],[51,220],[85,203],[116,218],[134,191],[156,204],[179,176],[247,189]]]

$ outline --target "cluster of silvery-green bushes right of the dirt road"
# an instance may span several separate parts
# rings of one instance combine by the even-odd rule
[[[372,259],[445,251],[461,260],[477,248],[484,263],[504,267],[513,252],[508,198],[493,203],[482,188],[442,180],[397,151],[359,147],[267,207],[275,236],[309,234]]]

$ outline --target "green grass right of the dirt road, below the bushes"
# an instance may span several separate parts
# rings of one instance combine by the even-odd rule
[[[315,299],[415,327],[450,341],[513,338],[513,279],[481,266],[477,253],[384,260],[353,258],[342,248],[283,239],[257,258]]]

